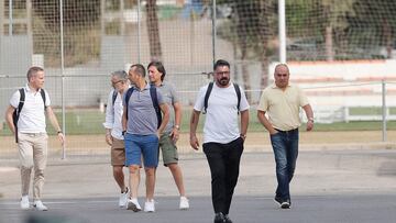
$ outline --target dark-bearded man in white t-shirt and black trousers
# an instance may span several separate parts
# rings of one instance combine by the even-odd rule
[[[215,83],[209,98],[207,89],[210,85],[199,90],[194,105],[190,120],[190,145],[194,149],[199,148],[196,131],[199,114],[204,110],[206,120],[202,147],[211,172],[215,223],[231,223],[229,211],[238,182],[250,107],[244,91],[230,82],[230,64],[219,59],[216,62],[213,70]],[[207,104],[206,98],[208,98]],[[238,125],[239,113],[241,113],[240,126]]]

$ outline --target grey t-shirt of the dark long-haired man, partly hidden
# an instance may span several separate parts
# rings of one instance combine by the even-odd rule
[[[176,94],[175,87],[167,81],[162,82],[157,89],[161,90],[164,101],[166,104],[168,104],[169,108],[169,122],[167,123],[164,133],[170,133],[175,125],[175,111],[173,109],[173,104],[178,102],[179,99]]]

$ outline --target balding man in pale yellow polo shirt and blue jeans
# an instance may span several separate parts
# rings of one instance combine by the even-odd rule
[[[257,107],[257,118],[270,132],[275,155],[278,186],[274,200],[282,209],[292,205],[289,183],[298,155],[299,108],[307,115],[307,131],[314,127],[314,112],[308,99],[299,87],[289,83],[289,76],[287,65],[278,64],[274,73],[275,83],[264,89]]]

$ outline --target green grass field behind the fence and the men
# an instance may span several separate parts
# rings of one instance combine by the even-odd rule
[[[185,110],[183,113],[183,122],[182,122],[182,132],[189,131],[189,119],[190,119],[190,110]],[[382,111],[378,109],[371,108],[354,108],[351,109],[351,114],[355,115],[371,115],[371,114],[381,114]],[[396,114],[396,108],[391,109],[391,114]],[[59,111],[56,112],[58,121],[62,123],[62,113]],[[102,123],[105,122],[105,113],[101,113],[99,110],[73,110],[66,112],[66,133],[72,135],[84,135],[84,134],[102,134],[105,133],[105,129]],[[200,115],[200,124],[198,126],[198,132],[202,131],[202,122],[205,116]],[[256,118],[255,110],[250,112],[250,132],[263,131],[264,127],[258,123]],[[53,134],[55,131],[53,130],[51,124],[48,125],[48,133]],[[305,124],[302,124],[301,130],[305,130]],[[382,122],[380,121],[356,121],[356,122],[337,122],[331,124],[315,124],[315,131],[381,131]],[[396,121],[387,122],[387,130],[396,130]],[[1,131],[0,135],[10,135],[9,129],[3,125],[3,131]]]

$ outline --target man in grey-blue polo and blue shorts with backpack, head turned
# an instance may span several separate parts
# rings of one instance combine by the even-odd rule
[[[169,120],[169,110],[160,90],[145,80],[145,68],[132,65],[129,79],[135,86],[123,96],[122,127],[125,142],[125,166],[130,170],[131,196],[128,209],[142,208],[138,201],[141,156],[146,176],[145,212],[154,212],[155,169],[158,166],[158,140]],[[163,113],[163,118],[161,115]]]

